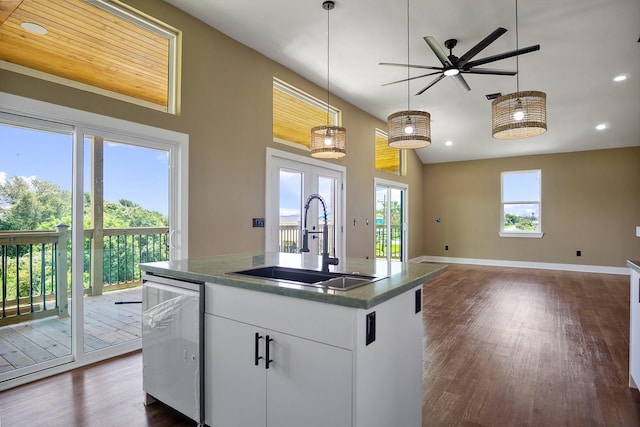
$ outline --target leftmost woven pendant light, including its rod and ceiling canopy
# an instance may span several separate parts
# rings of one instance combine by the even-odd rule
[[[311,129],[311,157],[339,159],[347,154],[347,130],[329,123],[329,11],[335,2],[325,1],[322,8],[327,11],[327,124]]]

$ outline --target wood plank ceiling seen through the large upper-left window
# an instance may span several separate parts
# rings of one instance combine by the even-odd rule
[[[168,104],[168,40],[82,0],[0,0],[0,60]]]

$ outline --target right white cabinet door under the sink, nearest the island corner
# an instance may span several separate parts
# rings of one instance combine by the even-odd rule
[[[351,426],[352,352],[283,333],[267,334],[273,339],[267,426]]]

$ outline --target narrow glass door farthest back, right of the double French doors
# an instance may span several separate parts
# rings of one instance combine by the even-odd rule
[[[404,261],[407,253],[407,187],[376,180],[376,259]]]

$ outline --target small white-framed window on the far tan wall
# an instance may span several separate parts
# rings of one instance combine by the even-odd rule
[[[502,237],[542,237],[538,170],[502,172]]]

